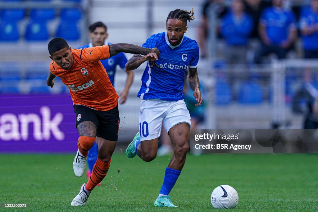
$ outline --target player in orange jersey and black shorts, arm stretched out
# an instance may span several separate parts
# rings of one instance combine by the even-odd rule
[[[107,174],[119,129],[118,95],[100,60],[119,52],[149,55],[157,60],[160,52],[157,48],[126,43],[72,49],[63,38],[52,39],[48,50],[52,62],[46,84],[53,87],[55,76],[60,77],[70,89],[76,113],[79,139],[73,170],[77,177],[84,174],[88,150],[95,139],[98,141],[98,157],[93,173],[71,202],[72,206],[85,205],[93,188]]]

